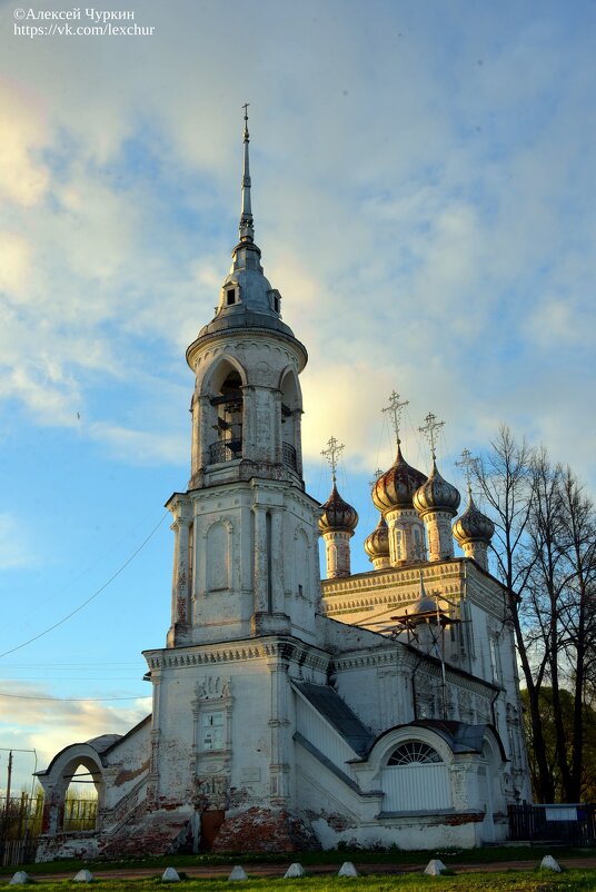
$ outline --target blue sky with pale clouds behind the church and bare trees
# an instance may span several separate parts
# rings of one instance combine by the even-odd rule
[[[307,486],[328,495],[334,434],[354,568],[394,388],[418,467],[433,410],[460,487],[461,449],[507,422],[594,493],[593,3],[127,0],[102,9],[153,36],[33,39],[17,6],[0,0],[0,652],[92,595],[186,488],[183,354],[235,245],[245,101],[257,242],[310,355]],[[146,713],[170,574],[166,518],[0,658],[22,697],[0,696],[0,746],[43,764]]]

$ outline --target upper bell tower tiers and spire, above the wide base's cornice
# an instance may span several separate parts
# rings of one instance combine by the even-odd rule
[[[239,241],[195,374],[191,477],[173,515],[168,646],[267,634],[315,641],[318,503],[305,493],[298,376],[307,353],[255,242],[245,106]]]

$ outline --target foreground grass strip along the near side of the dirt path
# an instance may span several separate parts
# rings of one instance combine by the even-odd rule
[[[67,889],[85,889],[81,883],[70,880],[39,881],[40,892],[66,892]],[[235,884],[238,892],[288,892],[292,885],[296,892],[588,892],[596,890],[596,870],[569,870],[562,874],[545,871],[503,873],[474,873],[459,876],[421,876],[420,874],[401,874],[391,876],[360,876],[344,880],[337,876],[304,878],[301,880],[250,880],[248,885]],[[158,888],[172,889],[171,884],[161,883],[159,876],[147,880],[97,880],[93,886],[98,892],[156,892]],[[227,880],[183,880],[180,892],[224,892],[229,889]],[[0,880],[0,889],[8,892],[16,886],[8,885],[8,878]]]

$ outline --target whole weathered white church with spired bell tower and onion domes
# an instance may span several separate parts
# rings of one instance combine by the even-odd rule
[[[378,475],[367,573],[350,573],[358,517],[302,478],[305,347],[265,277],[250,206],[219,306],[187,350],[191,477],[173,523],[171,625],[145,652],[152,711],[123,736],[73,743],[39,773],[38,859],[80,854],[475,846],[506,839],[530,790],[493,524],[439,474]],[[469,489],[469,487],[468,487]],[[319,536],[327,578],[320,581]],[[454,537],[465,557],[456,557]],[[109,732],[109,730],[108,730]],[[82,766],[82,767],[81,767]],[[95,830],[63,826],[73,775]]]

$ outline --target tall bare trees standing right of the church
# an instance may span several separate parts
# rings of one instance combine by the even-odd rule
[[[596,512],[573,470],[503,425],[476,465],[525,683],[538,802],[594,797]]]

